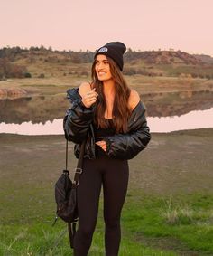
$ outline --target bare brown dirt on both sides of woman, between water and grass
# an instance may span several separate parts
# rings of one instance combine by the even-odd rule
[[[32,173],[38,183],[53,183],[65,166],[63,135],[1,134],[0,141],[0,178],[4,174],[8,182],[11,174],[22,173],[23,180],[26,172]],[[73,146],[69,143],[70,170],[77,162]],[[211,193],[212,151],[213,128],[152,134],[149,147],[129,161],[129,187],[153,194]]]

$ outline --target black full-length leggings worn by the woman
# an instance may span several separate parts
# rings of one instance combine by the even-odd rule
[[[101,156],[84,160],[78,186],[79,229],[74,239],[74,255],[87,256],[97,223],[101,185],[104,191],[106,256],[117,256],[121,239],[120,214],[125,202],[129,168],[126,160]]]

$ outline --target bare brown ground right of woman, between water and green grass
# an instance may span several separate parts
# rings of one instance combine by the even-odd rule
[[[130,185],[157,194],[213,192],[212,130],[153,134],[130,161]]]

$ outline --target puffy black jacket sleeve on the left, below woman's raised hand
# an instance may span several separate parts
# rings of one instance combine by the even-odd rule
[[[88,109],[81,100],[74,100],[63,119],[65,137],[74,143],[81,143],[86,139],[93,113],[93,108]]]

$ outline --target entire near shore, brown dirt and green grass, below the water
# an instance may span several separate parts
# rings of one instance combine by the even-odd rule
[[[70,255],[64,223],[51,227],[64,138],[0,135],[0,141],[0,254]],[[120,255],[213,254],[212,142],[212,128],[153,134],[130,161]],[[69,169],[75,165],[71,153]],[[103,255],[103,230],[100,204],[92,256]]]

